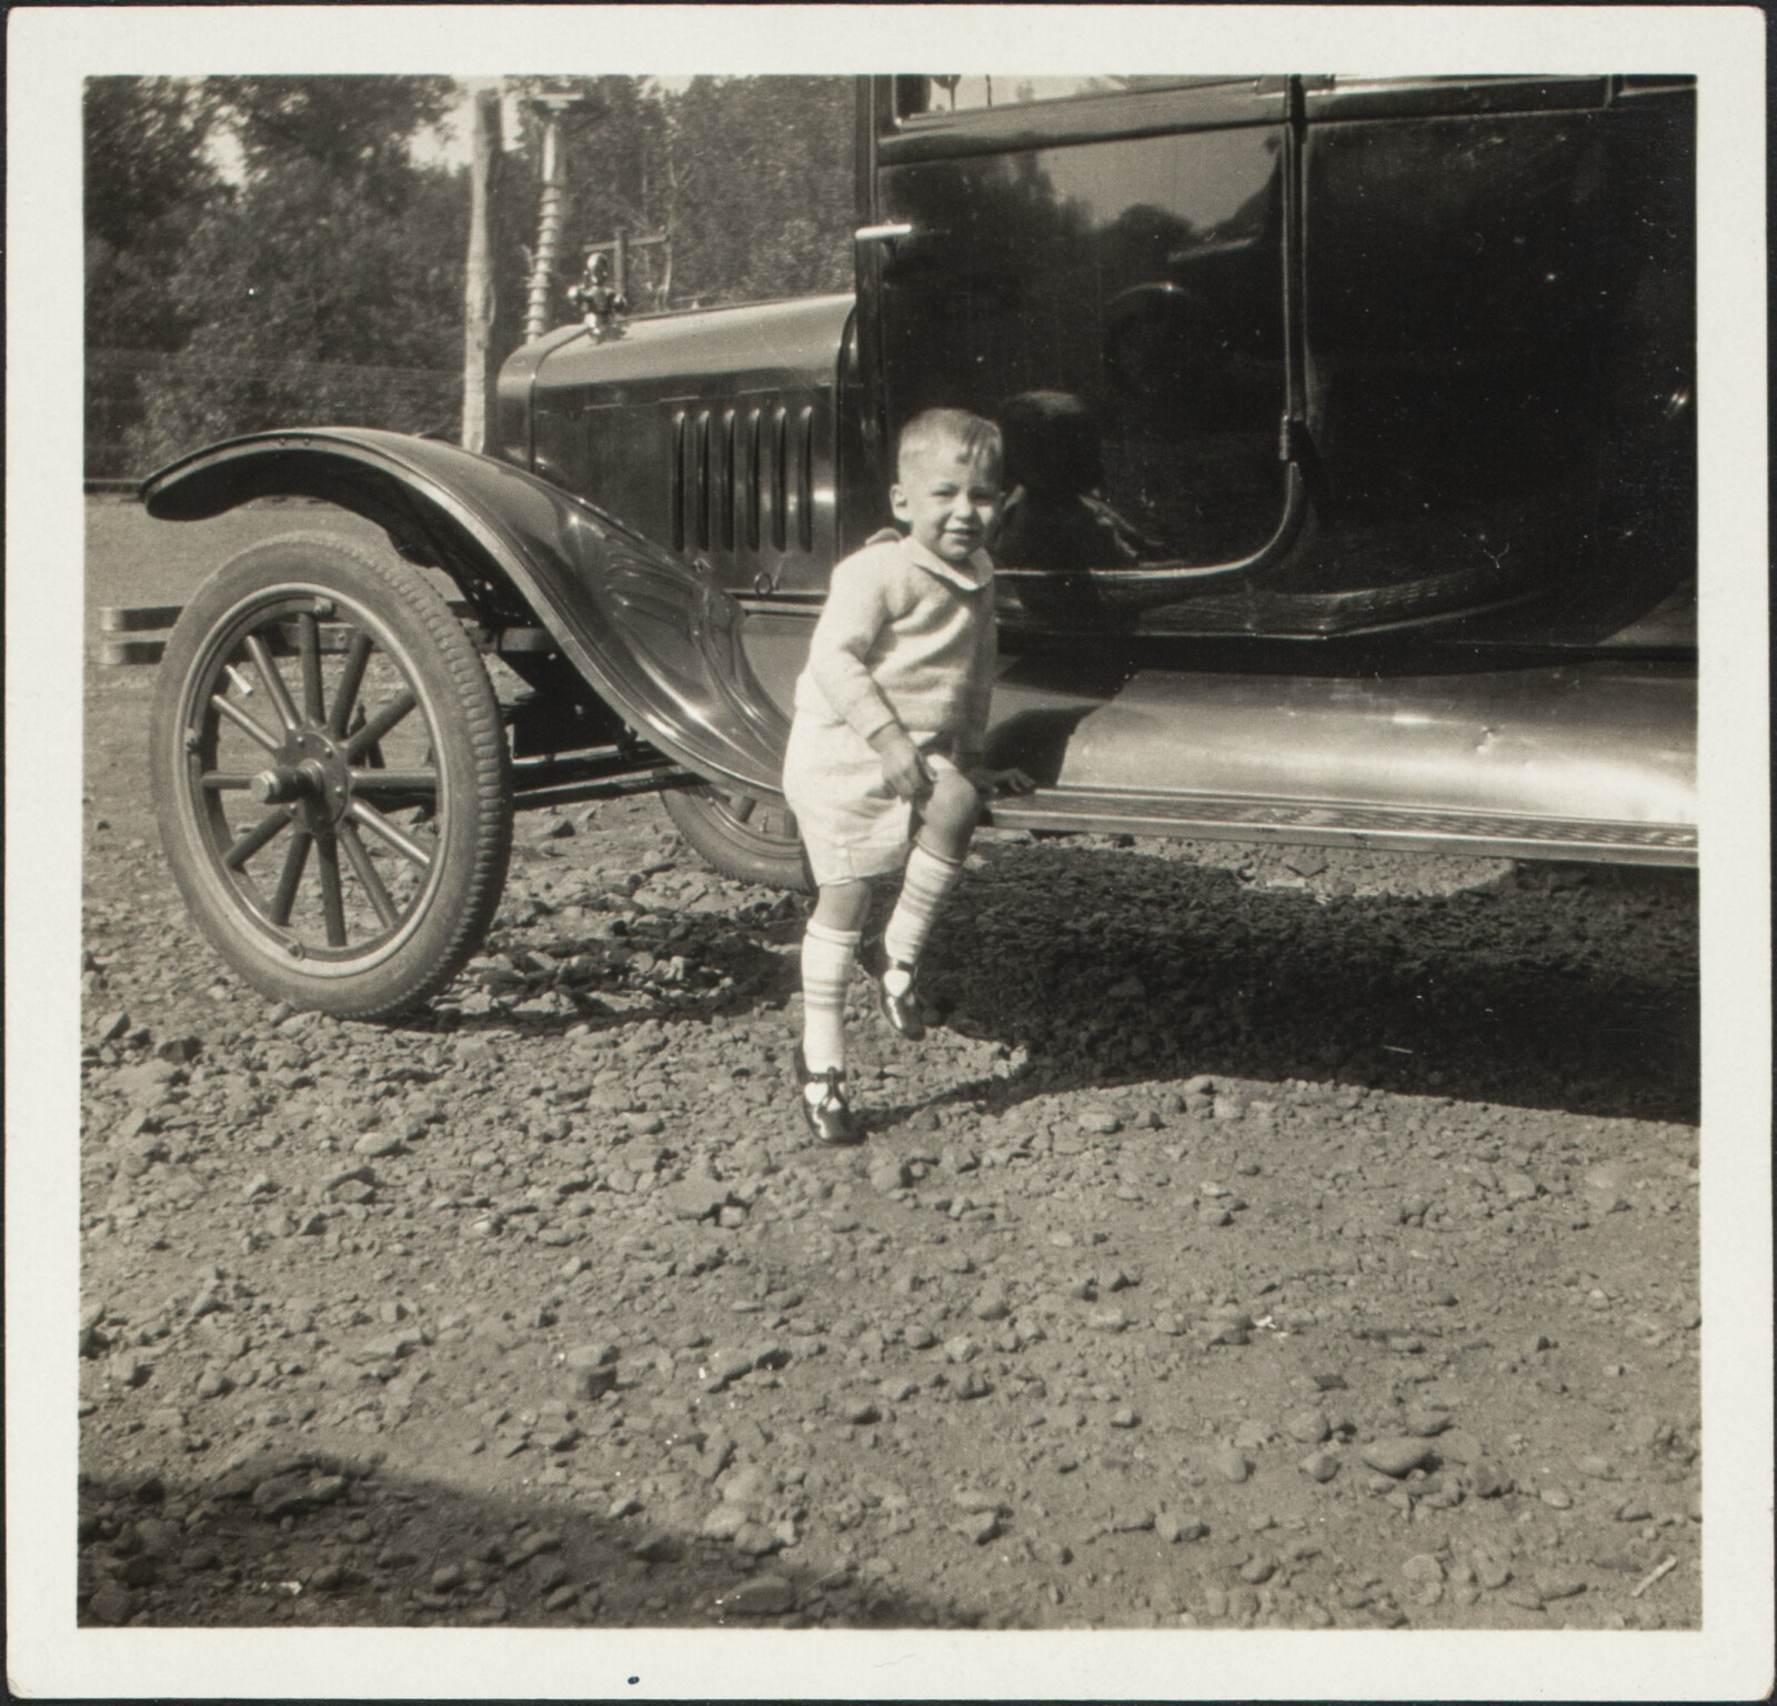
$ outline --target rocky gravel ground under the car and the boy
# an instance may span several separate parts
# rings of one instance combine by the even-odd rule
[[[832,1153],[803,903],[652,798],[521,817],[416,1020],[261,1000],[149,677],[87,679],[82,1622],[1699,1626],[1693,878],[988,833]]]

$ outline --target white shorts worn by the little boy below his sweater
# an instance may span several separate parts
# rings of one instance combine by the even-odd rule
[[[912,737],[935,775],[956,769],[947,734],[912,730]],[[823,889],[888,876],[906,864],[913,801],[890,791],[883,761],[849,723],[823,725],[805,716],[791,723],[784,798]]]

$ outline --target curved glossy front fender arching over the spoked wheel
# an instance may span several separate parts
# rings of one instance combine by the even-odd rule
[[[741,649],[741,606],[714,578],[524,469],[368,428],[229,439],[160,469],[142,503],[203,521],[304,496],[377,522],[478,606],[546,627],[629,727],[675,762],[746,793],[780,791],[789,723]]]

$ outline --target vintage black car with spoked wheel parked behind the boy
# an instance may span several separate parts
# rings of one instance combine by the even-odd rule
[[[791,684],[935,403],[1016,487],[992,757],[1041,785],[999,825],[1693,864],[1693,101],[860,80],[855,295],[565,325],[485,457],[291,426],[146,482],[327,499],[414,565],[279,538],[187,606],[192,912],[259,990],[389,1015],[474,953],[514,805],[626,775],[800,885]]]

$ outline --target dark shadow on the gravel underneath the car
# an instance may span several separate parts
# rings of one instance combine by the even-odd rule
[[[1009,1091],[995,1084],[995,1100],[1223,1073],[1695,1121],[1695,897],[1688,871],[1542,867],[1452,896],[1317,899],[1171,858],[988,844],[922,988],[951,1029],[1036,1063]],[[549,929],[533,926],[538,940]],[[732,986],[665,1015],[782,1009],[798,976],[782,947],[800,929],[782,915],[698,921],[677,945],[746,938],[730,947]],[[451,1020],[531,1036],[634,1022],[595,995],[569,1015]]]

